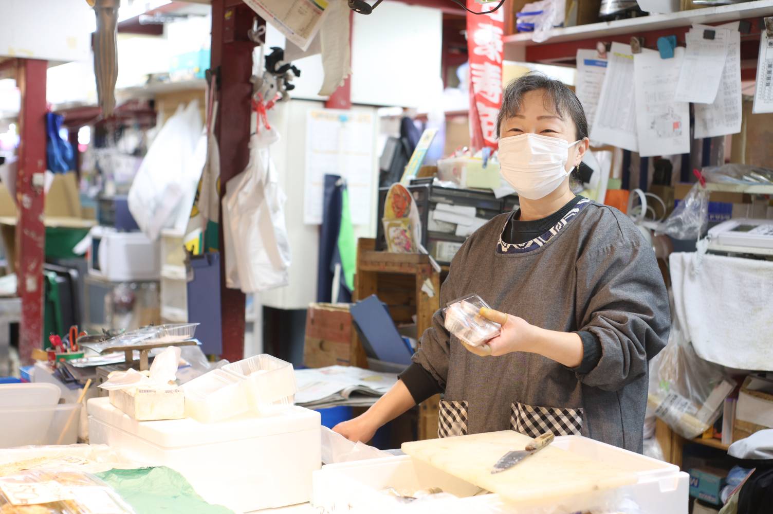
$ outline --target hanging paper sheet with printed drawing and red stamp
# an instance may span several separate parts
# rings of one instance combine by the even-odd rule
[[[642,157],[690,151],[690,104],[675,98],[684,55],[683,48],[676,48],[670,59],[649,49],[634,56],[636,128]]]

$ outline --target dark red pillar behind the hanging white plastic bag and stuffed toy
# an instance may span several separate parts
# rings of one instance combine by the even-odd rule
[[[215,134],[220,144],[220,192],[250,159],[250,97],[252,50],[247,30],[257,15],[240,0],[212,1],[212,54],[210,67],[220,67]],[[222,210],[221,210],[222,219]],[[223,316],[223,359],[244,356],[244,294],[226,288],[225,245],[220,230],[220,309]]]

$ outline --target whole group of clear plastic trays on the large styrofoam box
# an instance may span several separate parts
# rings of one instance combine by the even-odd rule
[[[272,414],[292,405],[297,391],[292,364],[265,354],[215,369],[182,387],[186,416],[202,423]]]

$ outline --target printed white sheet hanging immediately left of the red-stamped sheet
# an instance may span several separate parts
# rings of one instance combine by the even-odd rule
[[[612,43],[601,86],[591,140],[638,151],[633,53],[630,45]]]

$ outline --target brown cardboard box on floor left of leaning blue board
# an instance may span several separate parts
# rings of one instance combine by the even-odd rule
[[[309,305],[303,363],[309,368],[350,366],[356,338],[349,304]]]

